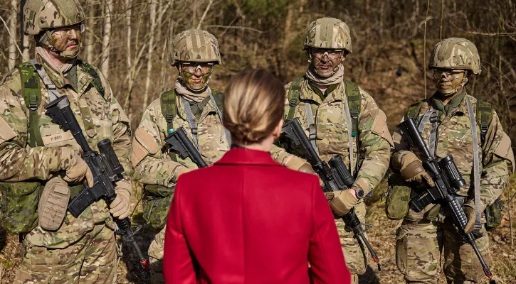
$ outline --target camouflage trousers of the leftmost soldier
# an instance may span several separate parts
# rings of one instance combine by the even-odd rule
[[[24,256],[14,283],[115,283],[115,234],[97,224],[77,243],[65,249],[47,249],[23,241]]]

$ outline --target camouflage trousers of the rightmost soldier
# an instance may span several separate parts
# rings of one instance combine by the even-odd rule
[[[450,222],[450,219],[445,219],[445,223],[404,220],[398,228],[396,266],[405,275],[406,283],[438,283],[441,261],[448,283],[483,283],[487,279],[473,248],[463,243]],[[483,236],[476,243],[489,264],[489,237],[484,226],[480,233]]]

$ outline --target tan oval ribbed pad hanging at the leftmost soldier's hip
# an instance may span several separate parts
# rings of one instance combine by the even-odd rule
[[[46,182],[38,204],[39,226],[47,231],[59,229],[65,219],[70,200],[68,184],[60,177]]]

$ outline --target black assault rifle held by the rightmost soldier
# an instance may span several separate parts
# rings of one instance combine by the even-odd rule
[[[431,203],[442,204],[448,210],[448,213],[453,217],[453,222],[459,229],[463,236],[464,241],[468,242],[473,247],[473,251],[478,257],[484,274],[490,279],[490,283],[496,283],[493,280],[493,274],[489,270],[488,265],[485,263],[484,258],[478,250],[477,244],[475,243],[475,236],[473,233],[465,234],[464,228],[468,223],[468,218],[464,214],[464,210],[458,200],[455,197],[455,193],[458,188],[465,185],[465,180],[460,175],[457,165],[453,161],[451,155],[447,155],[441,160],[433,158],[426,147],[421,133],[419,133],[414,119],[407,119],[398,125],[398,128],[402,133],[409,138],[409,142],[415,145],[421,153],[423,153],[423,168],[431,175],[433,182],[436,184],[434,187],[426,189],[421,194],[412,198],[410,201],[411,208],[416,212],[421,212],[426,205]]]

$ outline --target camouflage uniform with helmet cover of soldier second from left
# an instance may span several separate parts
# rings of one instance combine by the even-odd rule
[[[211,35],[211,37],[213,37],[213,35]],[[186,35],[186,38],[189,38],[189,35]],[[208,42],[208,40],[206,41]],[[216,45],[216,41],[214,43]],[[206,50],[204,50],[204,53],[203,50],[204,47],[201,48],[200,53],[201,58],[204,60],[215,61],[217,58],[220,60],[218,46],[216,46],[216,53],[212,53],[212,55],[206,55]],[[208,48],[208,50],[210,49]],[[184,58],[188,55],[188,58],[196,58],[192,50],[188,51],[189,52],[184,52],[184,54],[177,55],[177,57]],[[214,58],[214,60],[207,60],[206,58]],[[181,94],[177,94],[175,106],[177,115],[174,116],[172,121],[172,128],[179,129],[183,127],[190,140],[194,141],[191,134],[191,127],[184,111],[183,101],[180,98]],[[204,104],[204,107],[198,110],[201,112],[200,115],[197,114],[198,117],[196,117],[197,138],[199,141],[199,152],[202,158],[207,165],[212,165],[223,153],[228,151],[230,145],[226,140],[225,129],[216,111],[216,104],[213,104],[209,97],[205,99]],[[145,195],[151,197],[151,199],[147,199],[144,205],[145,207],[153,208],[152,210],[149,209],[149,215],[167,214],[169,212],[170,202],[168,200],[172,200],[175,190],[175,182],[173,182],[172,177],[177,173],[177,170],[184,167],[190,169],[197,168],[196,164],[193,163],[190,158],[183,159],[178,153],[170,151],[164,141],[164,138],[167,137],[169,133],[171,133],[171,131],[169,131],[167,121],[162,114],[162,101],[161,99],[156,99],[144,111],[132,142],[132,166],[135,169],[135,179],[144,184]],[[160,185],[162,187],[152,185]],[[163,191],[167,192],[164,195],[169,195],[169,199],[164,205],[165,207],[154,208],[155,206],[163,206],[163,203],[159,203],[159,198],[155,198],[157,195],[163,195]],[[149,247],[152,283],[164,283],[162,260],[165,228],[157,228],[157,230],[159,231],[156,236],[154,236],[154,240]]]

